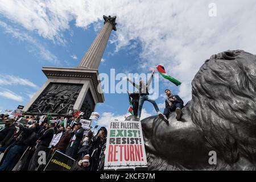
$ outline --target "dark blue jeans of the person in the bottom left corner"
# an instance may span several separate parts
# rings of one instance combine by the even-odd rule
[[[0,171],[11,171],[25,150],[25,146],[15,145],[11,147],[7,152],[5,159],[3,160],[2,165],[0,166]]]

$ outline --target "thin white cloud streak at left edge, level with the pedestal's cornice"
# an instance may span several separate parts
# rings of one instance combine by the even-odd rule
[[[20,78],[18,76],[13,75],[2,75],[0,74],[0,85],[6,86],[6,85],[24,85],[24,86],[30,86],[32,88],[38,89],[38,86],[35,85],[33,82]]]

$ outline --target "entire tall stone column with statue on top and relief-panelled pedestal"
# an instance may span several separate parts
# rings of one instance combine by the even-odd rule
[[[47,82],[24,107],[26,114],[67,115],[69,110],[84,112],[86,119],[98,102],[104,102],[98,66],[112,30],[116,31],[116,16],[103,16],[104,27],[76,68],[43,67]]]

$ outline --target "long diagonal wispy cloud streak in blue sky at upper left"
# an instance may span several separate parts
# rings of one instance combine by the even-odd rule
[[[1,2],[0,2],[1,3]],[[14,38],[27,42],[30,44],[28,52],[34,53],[35,56],[40,56],[42,59],[49,61],[53,64],[60,64],[57,57],[48,49],[46,49],[37,40],[27,35],[26,33],[20,32],[20,30],[7,25],[5,22],[0,21],[0,26],[5,28],[7,34],[11,34]]]

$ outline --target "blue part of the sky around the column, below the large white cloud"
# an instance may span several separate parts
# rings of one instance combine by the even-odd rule
[[[63,32],[63,39],[66,43],[57,44],[52,40],[44,39],[35,32],[28,32],[22,26],[10,22],[9,19],[1,16],[0,21],[0,49],[1,49],[1,91],[13,95],[0,95],[0,110],[16,109],[18,105],[26,105],[31,96],[47,81],[47,77],[41,71],[43,66],[49,67],[76,67],[82,57],[96,38],[100,28],[104,26],[103,19],[97,24],[91,24],[86,30],[76,27],[74,22],[70,22],[69,31]],[[118,18],[117,18],[118,22]],[[99,25],[100,24],[100,25]],[[96,29],[95,26],[98,26]],[[118,26],[117,26],[118,27]],[[11,28],[11,29],[9,29]],[[115,32],[112,31],[110,40]],[[27,40],[27,37],[33,41]],[[37,46],[38,45],[38,46]],[[123,47],[115,52],[116,45],[109,42],[106,47],[102,62],[99,67],[100,73],[110,75],[110,69],[115,69],[118,73],[150,73],[149,68],[138,69],[141,53],[141,45],[136,40],[131,40],[132,47]],[[48,56],[41,55],[39,47],[46,51]],[[48,52],[49,51],[49,52]],[[46,58],[50,57],[50,58]],[[10,77],[13,79],[10,80]],[[14,79],[24,79],[25,85]],[[6,84],[6,82],[9,84]],[[117,83],[118,81],[116,81]],[[162,86],[162,85],[161,85]],[[174,87],[174,85],[170,84]],[[164,90],[164,88],[160,88]],[[98,104],[96,111],[105,116],[113,115],[113,118],[123,118],[129,107],[127,94],[105,93],[104,104]],[[157,102],[163,103],[164,97],[159,97]],[[149,116],[155,114],[154,107],[145,102],[144,114]],[[161,109],[163,109],[161,107]],[[124,118],[123,118],[124,119]]]

